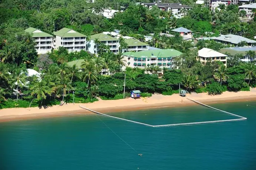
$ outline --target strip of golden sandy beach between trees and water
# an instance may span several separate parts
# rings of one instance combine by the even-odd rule
[[[241,92],[224,92],[222,95],[210,96],[207,93],[192,93],[187,94],[187,97],[192,98],[202,103],[218,103],[218,102],[239,102],[239,101],[256,101],[256,88],[251,91]],[[75,103],[64,104],[63,106],[55,105],[48,108],[10,108],[0,110],[0,121],[23,120],[44,117],[56,117],[78,114],[94,114],[88,110],[82,109],[79,105],[86,108],[96,110],[102,113],[120,112],[125,110],[149,109],[159,107],[174,107],[197,105],[188,100],[186,97],[181,97],[178,94],[164,96],[161,94],[153,94],[150,98],[140,99],[120,99],[112,101],[99,100],[94,103]]]

